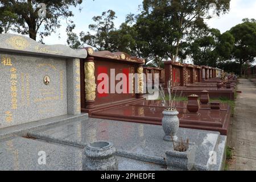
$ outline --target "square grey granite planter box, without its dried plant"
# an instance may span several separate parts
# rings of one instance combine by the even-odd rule
[[[195,164],[195,151],[194,146],[189,146],[186,152],[166,151],[167,169],[170,171],[191,171]]]

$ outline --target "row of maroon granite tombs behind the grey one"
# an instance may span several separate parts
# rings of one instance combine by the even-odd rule
[[[188,97],[188,101],[175,102],[179,111],[180,127],[219,131],[222,135],[227,135],[230,106],[220,102],[210,102],[210,98],[234,99],[236,80],[233,77],[226,80],[221,78],[223,77],[221,69],[173,61],[165,61],[164,69],[143,67],[144,60],[130,57],[123,52],[94,52],[92,48],[86,50],[88,57],[80,60],[81,80],[85,80],[81,82],[81,111],[89,113],[90,117],[162,125],[164,110],[162,101],[146,100],[143,94],[147,92],[148,85],[154,87],[157,82],[166,87],[167,80],[171,80],[174,86],[173,92]],[[93,70],[93,74],[90,74],[89,69]],[[129,77],[129,73],[139,75],[144,73],[144,77],[138,82],[133,81],[132,93],[113,94],[110,88],[107,88],[108,93],[99,93],[97,88],[102,87],[101,83],[104,79],[98,78],[98,75],[106,73],[111,82],[111,69],[115,69],[115,75],[125,73]],[[89,81],[96,84],[94,90],[92,90],[93,84],[88,84]],[[115,80],[115,85],[119,81],[119,79]],[[138,84],[139,92],[135,92],[134,84]],[[125,89],[129,90],[129,87],[130,85],[127,84]]]

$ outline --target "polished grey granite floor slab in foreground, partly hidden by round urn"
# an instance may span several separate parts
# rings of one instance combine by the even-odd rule
[[[46,152],[46,164],[38,163],[39,151]],[[0,141],[0,171],[80,171],[83,149],[27,138]],[[117,156],[121,171],[162,171],[166,167]]]

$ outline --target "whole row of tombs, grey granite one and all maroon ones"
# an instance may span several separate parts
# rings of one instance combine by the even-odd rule
[[[1,96],[6,97],[1,97],[0,129],[81,113],[92,118],[161,125],[162,101],[146,100],[144,85],[159,82],[166,86],[171,80],[177,94],[188,97],[188,101],[175,103],[180,127],[228,134],[230,106],[210,102],[210,98],[234,100],[237,80],[225,78],[221,69],[173,61],[165,61],[164,69],[148,68],[143,67],[143,59],[123,52],[46,46],[12,34],[1,38],[5,44],[0,46],[0,77],[5,81],[0,85]],[[111,86],[120,84],[118,73],[127,76],[121,86],[127,92],[117,93]],[[131,73],[138,74],[138,81],[129,81]],[[99,87],[108,92],[98,92]]]

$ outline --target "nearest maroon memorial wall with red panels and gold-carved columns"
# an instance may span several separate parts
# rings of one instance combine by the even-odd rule
[[[138,68],[143,71],[144,60],[123,52],[94,52],[92,48],[85,49],[88,51],[88,57],[80,60],[82,112],[143,98],[142,94],[135,94],[134,81],[132,81],[133,92],[129,93],[129,73],[137,73]],[[126,84],[122,86],[123,92],[117,94],[115,86],[121,81],[121,78],[117,79],[118,73],[125,74],[127,81],[124,80]],[[108,77],[102,77],[104,75]],[[114,84],[114,88],[111,88],[110,84]],[[101,92],[98,92],[99,90]]]

